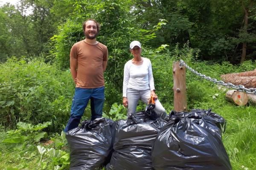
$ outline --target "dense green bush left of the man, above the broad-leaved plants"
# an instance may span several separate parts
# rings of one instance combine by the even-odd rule
[[[0,65],[0,124],[52,122],[61,130],[70,115],[74,83],[68,71],[58,71],[40,59],[9,59]]]

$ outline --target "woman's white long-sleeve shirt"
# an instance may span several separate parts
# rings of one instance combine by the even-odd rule
[[[127,88],[151,91],[155,89],[151,62],[147,58],[142,58],[142,65],[134,65],[131,60],[125,63],[123,97],[127,97]]]

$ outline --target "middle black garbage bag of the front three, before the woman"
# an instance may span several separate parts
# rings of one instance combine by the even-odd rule
[[[114,152],[105,170],[154,170],[151,149],[166,121],[160,118],[151,120],[150,117],[145,111],[133,113],[125,124],[118,127]]]

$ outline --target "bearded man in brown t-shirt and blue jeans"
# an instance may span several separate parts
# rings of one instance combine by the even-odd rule
[[[91,120],[102,117],[105,99],[103,72],[108,62],[108,48],[96,41],[99,23],[89,19],[83,23],[85,39],[76,42],[70,51],[70,70],[76,84],[70,119],[64,132],[78,127],[90,99]]]

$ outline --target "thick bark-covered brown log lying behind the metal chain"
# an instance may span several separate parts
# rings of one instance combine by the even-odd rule
[[[245,88],[256,88],[256,69],[242,73],[231,73],[221,75],[224,82],[234,85],[244,85]]]

